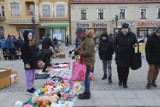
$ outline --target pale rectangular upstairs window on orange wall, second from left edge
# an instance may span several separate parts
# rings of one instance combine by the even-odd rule
[[[20,4],[19,3],[11,3],[11,15],[12,16],[20,15]]]

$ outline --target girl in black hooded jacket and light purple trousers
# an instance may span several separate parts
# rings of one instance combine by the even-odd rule
[[[22,43],[21,53],[24,62],[25,77],[26,77],[26,93],[32,94],[35,91],[34,78],[35,69],[37,67],[37,48],[34,43],[33,33],[25,30],[23,32],[24,42]]]

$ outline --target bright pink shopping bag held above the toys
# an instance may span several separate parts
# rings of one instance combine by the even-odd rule
[[[86,76],[86,64],[80,61],[74,61],[72,67],[72,81],[85,81]]]

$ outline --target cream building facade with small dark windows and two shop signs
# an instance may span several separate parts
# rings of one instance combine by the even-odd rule
[[[159,0],[71,0],[71,34],[77,27],[115,34],[122,23],[129,23],[138,37],[160,25]],[[72,39],[74,40],[74,39]],[[73,41],[74,42],[74,41]]]

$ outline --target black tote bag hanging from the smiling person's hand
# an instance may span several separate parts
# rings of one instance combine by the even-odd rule
[[[135,47],[134,47],[134,50],[135,50]],[[139,44],[136,51],[137,52],[133,53],[132,59],[131,59],[132,70],[137,70],[142,66],[142,57],[141,57],[141,52],[139,52]]]

